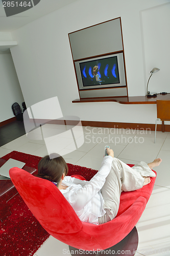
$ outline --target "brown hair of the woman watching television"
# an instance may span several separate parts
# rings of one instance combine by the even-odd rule
[[[55,156],[55,157],[54,157]],[[68,173],[68,166],[61,156],[53,154],[43,157],[38,163],[38,174],[36,177],[58,183],[63,174]]]

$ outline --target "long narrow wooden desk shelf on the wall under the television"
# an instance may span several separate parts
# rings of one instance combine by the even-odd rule
[[[134,97],[81,98],[81,99],[72,100],[72,103],[114,101],[120,104],[156,104],[157,99],[170,100],[170,94],[165,94],[165,95],[158,94],[157,97],[134,96]]]

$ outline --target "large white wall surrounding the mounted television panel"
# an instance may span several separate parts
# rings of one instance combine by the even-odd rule
[[[144,14],[147,12],[153,15],[155,7],[162,8],[169,2],[80,0],[14,31],[12,38],[17,40],[18,46],[13,47],[11,53],[27,107],[58,96],[63,115],[79,116],[81,120],[155,123],[156,105],[153,104],[72,103],[72,100],[79,98],[79,93],[68,33],[120,16],[129,96],[145,95],[150,69],[160,66],[155,64],[155,59],[148,63],[149,49],[146,47],[148,41],[145,36],[151,28],[147,28],[149,16]],[[169,6],[166,5],[166,8]],[[164,24],[163,21],[161,24]],[[158,51],[160,53],[161,49]],[[161,63],[168,65],[169,59],[166,56],[159,55],[159,58]],[[156,75],[161,79],[161,71],[153,76]],[[169,79],[168,74],[165,74],[164,79]],[[158,85],[156,89],[159,89]]]

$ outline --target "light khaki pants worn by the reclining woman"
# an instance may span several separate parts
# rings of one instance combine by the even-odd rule
[[[99,218],[99,224],[111,221],[116,217],[121,192],[141,188],[144,183],[142,176],[155,177],[156,175],[145,162],[129,167],[119,159],[113,158],[110,173],[101,189],[105,201],[103,208],[106,210],[106,214]]]

